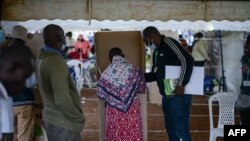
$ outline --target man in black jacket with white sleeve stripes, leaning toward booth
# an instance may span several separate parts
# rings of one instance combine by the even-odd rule
[[[169,141],[191,141],[189,116],[192,96],[184,92],[193,71],[194,59],[178,41],[161,35],[153,26],[143,30],[143,41],[147,46],[157,46],[154,51],[154,70],[145,74],[145,77],[148,82],[157,81],[162,95],[162,110]],[[166,65],[181,66],[178,84],[170,96],[165,94],[164,87]]]

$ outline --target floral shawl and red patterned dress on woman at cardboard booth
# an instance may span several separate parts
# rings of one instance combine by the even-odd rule
[[[97,95],[106,102],[106,141],[143,141],[138,93],[145,88],[140,69],[120,56],[113,58],[97,84]]]

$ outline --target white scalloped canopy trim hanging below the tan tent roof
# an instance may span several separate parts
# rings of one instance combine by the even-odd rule
[[[160,30],[224,30],[224,31],[250,31],[250,21],[245,22],[231,22],[231,21],[98,21],[98,20],[29,20],[29,21],[2,21],[5,32],[10,33],[14,25],[23,25],[29,32],[41,31],[47,24],[58,24],[64,28],[65,31],[84,31],[84,30],[142,30],[146,26],[155,26]]]

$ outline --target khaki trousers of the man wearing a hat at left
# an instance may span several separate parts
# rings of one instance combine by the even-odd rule
[[[15,139],[14,141],[33,141],[35,113],[33,105],[14,106]]]

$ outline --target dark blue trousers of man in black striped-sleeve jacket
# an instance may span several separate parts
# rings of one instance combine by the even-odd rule
[[[192,95],[163,96],[162,110],[169,141],[191,141],[189,129]]]

